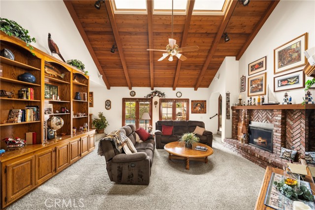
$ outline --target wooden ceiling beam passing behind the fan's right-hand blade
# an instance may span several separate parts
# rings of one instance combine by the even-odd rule
[[[186,45],[186,40],[187,40],[187,37],[188,37],[189,25],[190,25],[190,20],[191,20],[191,15],[192,15],[192,10],[193,10],[193,5],[194,4],[195,4],[195,0],[189,0],[187,17],[186,17],[186,21],[185,21],[185,27],[184,27],[184,31],[183,31],[183,36],[182,36],[182,43],[180,45],[181,47],[185,47],[185,45]],[[178,78],[179,78],[179,72],[181,70],[181,66],[182,66],[182,60],[178,60],[177,67],[176,67],[176,72],[175,72],[173,90],[175,90],[176,87],[177,87]]]

